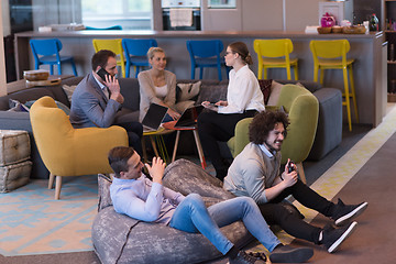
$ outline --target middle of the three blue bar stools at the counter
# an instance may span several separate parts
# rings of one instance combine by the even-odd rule
[[[122,47],[125,52],[127,58],[127,78],[130,76],[130,67],[134,66],[135,68],[135,78],[138,78],[140,67],[150,66],[147,61],[147,52],[150,47],[158,46],[157,42],[153,38],[148,40],[132,40],[132,38],[123,38]]]

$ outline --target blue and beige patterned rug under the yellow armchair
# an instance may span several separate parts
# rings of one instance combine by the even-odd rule
[[[4,256],[92,251],[96,175],[64,177],[61,200],[47,180],[0,194],[0,254]]]

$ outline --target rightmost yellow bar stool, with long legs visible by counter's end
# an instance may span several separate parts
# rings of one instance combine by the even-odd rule
[[[352,131],[351,120],[351,103],[350,98],[353,100],[356,121],[359,123],[356,95],[353,81],[353,58],[346,58],[346,53],[351,46],[348,40],[334,40],[334,41],[311,41],[309,47],[314,56],[314,81],[318,81],[318,74],[320,69],[320,84],[323,85],[324,69],[342,69],[344,92],[342,96],[345,100],[342,102],[346,106],[349,130]],[[348,86],[348,70],[351,82],[351,91]]]

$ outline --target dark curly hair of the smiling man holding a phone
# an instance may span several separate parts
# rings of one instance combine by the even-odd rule
[[[263,111],[253,118],[249,125],[249,140],[254,144],[263,144],[276,123],[283,123],[287,136],[288,118],[283,111]]]

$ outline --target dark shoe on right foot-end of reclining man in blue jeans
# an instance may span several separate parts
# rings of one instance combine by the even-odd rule
[[[292,248],[289,245],[276,246],[271,253],[272,263],[300,263],[306,262],[314,255],[314,250],[308,248]]]

